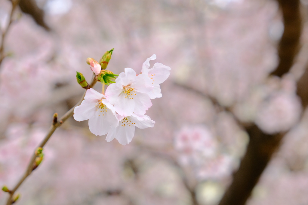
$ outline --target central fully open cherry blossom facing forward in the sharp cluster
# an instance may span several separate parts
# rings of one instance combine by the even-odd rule
[[[121,116],[131,116],[132,113],[144,115],[152,106],[150,97],[146,94],[153,89],[151,79],[147,74],[139,74],[131,68],[125,68],[124,73],[106,89],[106,98],[114,104],[115,111]]]

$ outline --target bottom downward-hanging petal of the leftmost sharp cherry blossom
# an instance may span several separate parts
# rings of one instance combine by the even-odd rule
[[[107,116],[98,114],[98,112],[89,119],[89,129],[95,135],[107,134],[110,125]]]

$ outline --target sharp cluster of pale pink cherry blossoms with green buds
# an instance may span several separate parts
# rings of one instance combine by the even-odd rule
[[[107,134],[107,142],[115,138],[126,145],[132,141],[135,127],[143,129],[154,126],[155,122],[145,112],[152,106],[151,99],[162,97],[159,84],[169,77],[170,67],[155,63],[149,69],[149,61],[156,59],[154,54],[143,63],[139,75],[131,68],[125,68],[124,73],[116,75],[105,70],[112,51],[107,51],[99,62],[87,59],[97,81],[103,84],[102,93],[87,89],[83,75],[77,72],[77,81],[87,92],[82,103],[74,109],[74,119],[89,120],[89,129],[93,134]],[[107,84],[105,93],[104,85]]]

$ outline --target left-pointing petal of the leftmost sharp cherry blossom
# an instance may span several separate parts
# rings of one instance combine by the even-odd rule
[[[83,100],[81,104],[74,108],[74,119],[76,121],[88,120],[95,115],[96,99]]]

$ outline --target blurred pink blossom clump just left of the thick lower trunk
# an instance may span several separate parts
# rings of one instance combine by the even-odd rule
[[[174,147],[179,152],[179,162],[191,165],[199,180],[221,179],[233,170],[231,156],[222,154],[219,142],[204,126],[184,126],[176,133]]]

